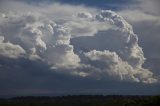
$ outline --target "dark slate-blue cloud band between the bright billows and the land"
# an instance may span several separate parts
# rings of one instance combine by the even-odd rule
[[[0,96],[68,94],[158,94],[159,85],[95,80],[57,74],[43,62],[25,59],[0,61]]]

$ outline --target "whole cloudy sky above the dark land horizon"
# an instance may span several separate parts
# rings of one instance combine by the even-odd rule
[[[0,97],[160,94],[159,0],[1,0]]]

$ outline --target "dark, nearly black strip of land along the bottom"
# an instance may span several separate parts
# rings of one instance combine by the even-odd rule
[[[160,96],[28,96],[0,99],[0,106],[160,106]]]

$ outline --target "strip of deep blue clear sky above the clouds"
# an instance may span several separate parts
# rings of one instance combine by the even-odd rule
[[[6,1],[6,0],[3,0]],[[10,1],[10,0],[7,0]],[[128,7],[130,4],[135,4],[135,0],[15,0],[15,1],[24,1],[29,4],[50,4],[50,3],[61,3],[61,4],[70,4],[70,5],[85,5],[90,7],[96,7],[101,9],[113,9],[118,10],[125,7]]]

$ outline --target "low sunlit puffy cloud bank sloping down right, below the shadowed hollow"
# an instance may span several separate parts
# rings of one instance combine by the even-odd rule
[[[135,69],[115,53],[110,51],[90,51],[85,53],[91,65],[98,68],[101,74],[108,74],[120,80],[131,80],[135,82],[153,83],[157,80],[152,78],[153,73],[146,69]],[[102,64],[102,65],[97,65]]]

